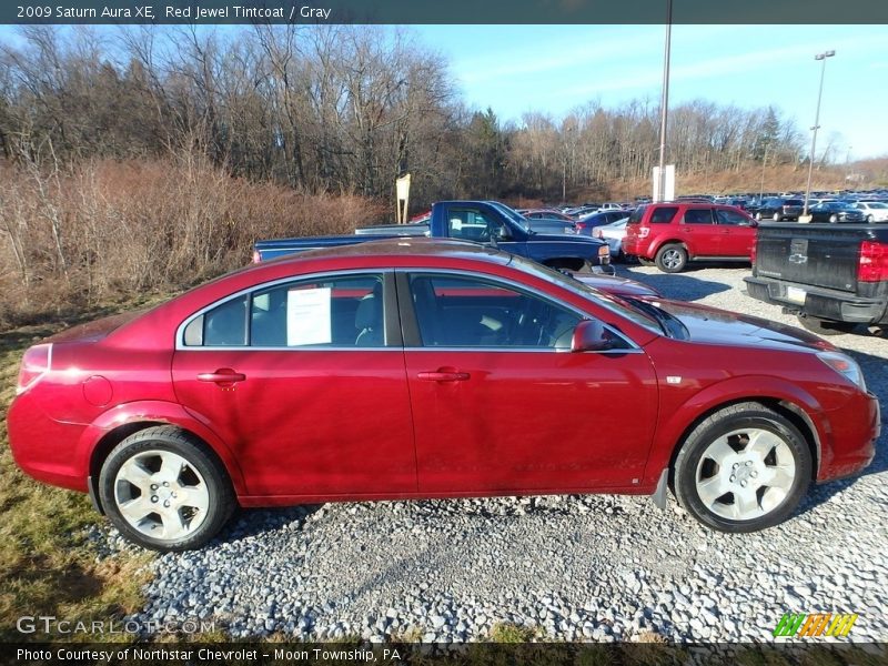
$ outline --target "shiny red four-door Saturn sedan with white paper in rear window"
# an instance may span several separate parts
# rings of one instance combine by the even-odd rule
[[[787,518],[874,456],[858,365],[789,326],[612,296],[487,248],[362,243],[251,266],[29,349],[18,464],[129,538],[206,543],[235,506],[654,495]]]

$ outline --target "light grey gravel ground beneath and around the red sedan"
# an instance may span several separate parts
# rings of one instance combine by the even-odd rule
[[[743,268],[680,275],[620,266],[664,294],[795,323],[743,292]],[[888,342],[831,339],[888,407]],[[886,410],[888,412],[888,410]],[[565,496],[327,504],[243,512],[200,552],[154,563],[133,619],[215,619],[233,637],[486,639],[498,623],[545,639],[770,640],[784,613],[860,616],[888,640],[882,435],[864,476],[813,488],[787,523],[703,529],[675,500]],[[109,535],[109,547],[120,547]]]

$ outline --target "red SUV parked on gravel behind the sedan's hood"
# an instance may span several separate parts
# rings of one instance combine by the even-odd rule
[[[733,205],[652,203],[629,216],[623,251],[666,273],[684,271],[688,261],[749,261],[755,226]]]

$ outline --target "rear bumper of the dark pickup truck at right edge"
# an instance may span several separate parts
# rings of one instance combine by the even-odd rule
[[[862,299],[848,292],[796,284],[768,278],[744,278],[749,295],[793,312],[836,322],[878,324],[888,322],[885,299]],[[794,290],[795,293],[791,293]],[[804,296],[804,302],[801,297]]]

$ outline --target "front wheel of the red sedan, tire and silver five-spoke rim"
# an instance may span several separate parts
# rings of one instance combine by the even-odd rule
[[[708,527],[757,532],[793,514],[813,465],[795,425],[759,403],[739,403],[714,413],[687,436],[675,461],[675,493]]]

